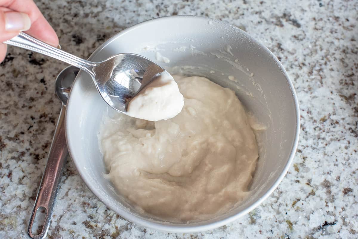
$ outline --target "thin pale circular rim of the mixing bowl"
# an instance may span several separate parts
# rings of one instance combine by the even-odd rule
[[[113,40],[115,40],[116,38],[120,37],[121,35],[124,35],[134,29],[136,29],[137,27],[142,27],[146,24],[152,23],[153,21],[161,21],[161,20],[165,20],[165,19],[193,19],[193,20],[213,20],[213,21],[221,21],[218,19],[213,19],[213,18],[208,18],[208,17],[204,17],[204,16],[194,16],[194,15],[175,15],[175,16],[163,16],[163,17],[159,17],[159,18],[154,18],[154,19],[150,19],[150,20],[146,20],[143,21],[141,23],[132,25],[131,27],[128,27],[124,30],[122,30],[121,32],[116,33],[115,35],[113,35],[111,38],[109,38],[106,42],[104,42],[100,47],[98,47],[92,54],[91,56],[89,56],[88,59],[91,59],[93,56],[95,56],[99,51],[101,51],[101,49],[103,49],[104,47],[106,47],[108,44],[110,44]],[[221,21],[224,22],[224,21]],[[226,23],[229,24],[229,23]],[[230,24],[232,25],[232,24]],[[69,118],[67,117],[67,113],[66,113],[66,120],[65,120],[65,128],[66,128],[66,142],[68,145],[68,152],[69,155],[71,156],[72,162],[74,164],[74,166],[77,169],[77,172],[79,173],[79,175],[81,176],[82,180],[84,181],[84,183],[86,184],[86,186],[89,188],[89,190],[101,201],[103,202],[103,204],[105,204],[109,209],[111,209],[113,212],[115,212],[116,214],[120,215],[122,218],[125,218],[126,220],[129,220],[133,223],[139,224],[141,226],[147,227],[147,228],[152,228],[152,229],[156,229],[156,230],[160,230],[160,231],[166,231],[166,232],[173,232],[173,233],[192,233],[192,232],[199,232],[199,231],[206,231],[206,230],[211,230],[214,228],[218,228],[220,226],[226,225],[228,223],[231,223],[232,221],[240,218],[241,216],[247,214],[248,212],[252,211],[253,209],[255,209],[257,206],[259,206],[264,200],[267,199],[267,197],[269,197],[271,195],[271,193],[277,188],[277,186],[279,185],[279,183],[282,181],[282,179],[285,177],[287,171],[289,170],[291,163],[294,159],[294,155],[296,153],[296,149],[297,149],[297,145],[298,145],[298,141],[299,141],[299,134],[300,134],[300,109],[299,109],[299,104],[298,104],[298,100],[297,100],[297,96],[296,96],[296,92],[294,89],[294,86],[290,80],[289,75],[287,74],[285,68],[282,66],[281,62],[277,59],[277,57],[274,55],[274,53],[272,53],[266,46],[264,46],[262,43],[260,43],[258,40],[256,40],[255,38],[253,38],[251,35],[249,35],[248,33],[246,33],[245,31],[241,30],[240,28],[232,25],[233,28],[236,28],[236,30],[238,30],[239,32],[241,32],[241,34],[246,35],[246,37],[250,40],[252,40],[253,42],[256,42],[260,47],[262,47],[263,51],[266,51],[266,53],[275,61],[277,67],[281,70],[282,74],[284,75],[284,77],[286,78],[286,82],[289,85],[289,88],[291,89],[291,93],[292,93],[292,99],[294,100],[294,107],[295,107],[295,114],[296,114],[296,125],[295,125],[295,135],[294,135],[294,141],[292,144],[292,148],[291,148],[291,153],[289,155],[289,159],[287,160],[287,163],[285,165],[285,167],[283,168],[282,172],[280,173],[280,176],[277,178],[277,180],[275,181],[275,183],[264,193],[264,195],[258,199],[257,201],[253,202],[251,205],[249,205],[246,209],[238,212],[235,215],[231,215],[231,216],[227,216],[226,218],[223,218],[219,221],[214,221],[208,224],[204,224],[204,225],[174,225],[174,224],[162,224],[162,223],[157,223],[155,221],[151,221],[151,220],[146,220],[141,218],[140,216],[137,216],[135,214],[132,214],[130,211],[128,210],[124,210],[122,207],[115,207],[115,205],[112,205],[112,203],[107,199],[106,196],[98,193],[96,191],[96,187],[92,186],[91,183],[89,183],[89,181],[87,180],[86,177],[83,176],[82,174],[82,167],[81,165],[79,165],[78,162],[76,162],[76,159],[73,157],[73,153],[72,153],[72,140],[67,137],[67,135],[69,135],[68,132],[68,120]],[[82,70],[79,72],[79,74],[76,76],[76,79],[74,81],[74,84],[77,81],[77,78],[79,76],[81,76],[81,72]],[[69,99],[71,98],[71,93],[72,93],[72,89],[70,91],[69,94]],[[69,101],[70,102],[70,101]],[[71,104],[67,105],[67,109],[69,109],[69,107],[71,107]]]

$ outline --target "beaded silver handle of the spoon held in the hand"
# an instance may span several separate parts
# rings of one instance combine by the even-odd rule
[[[36,38],[31,37],[30,35],[20,32],[16,37],[11,38],[4,42],[5,44],[9,44],[15,47],[21,47],[30,51],[38,52],[44,54],[46,56],[58,59],[60,61],[71,64],[72,66],[76,66],[81,70],[86,71],[91,76],[94,76],[94,72],[92,68],[98,66],[97,63],[87,61],[85,59],[73,56],[65,51],[62,51],[58,48],[50,46]]]

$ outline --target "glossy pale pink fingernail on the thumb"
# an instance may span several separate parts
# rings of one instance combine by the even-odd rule
[[[16,11],[5,12],[5,30],[7,31],[26,31],[31,27],[31,20],[26,13]]]

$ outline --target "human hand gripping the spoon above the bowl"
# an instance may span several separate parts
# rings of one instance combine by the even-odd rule
[[[3,42],[26,31],[29,35],[54,47],[58,37],[33,0],[0,0],[0,62],[6,55]]]

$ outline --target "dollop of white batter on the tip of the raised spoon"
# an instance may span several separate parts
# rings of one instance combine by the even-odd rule
[[[167,120],[179,114],[183,105],[177,83],[165,71],[129,101],[126,114],[150,121]]]

